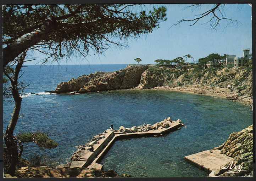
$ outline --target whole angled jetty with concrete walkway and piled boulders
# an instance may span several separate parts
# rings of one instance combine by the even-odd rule
[[[86,145],[80,145],[78,150],[72,155],[71,163],[59,165],[59,168],[95,168],[102,169],[100,160],[105,156],[107,151],[116,140],[125,138],[138,138],[147,136],[161,136],[163,134],[180,129],[184,124],[178,119],[172,121],[170,117],[157,122],[153,125],[143,124],[125,128],[120,126],[119,129],[107,129],[103,133],[95,135]]]

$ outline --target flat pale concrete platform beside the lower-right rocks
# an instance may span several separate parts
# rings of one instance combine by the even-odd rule
[[[221,154],[220,150],[206,150],[185,156],[184,159],[196,167],[201,168],[201,170],[206,171],[208,174],[216,171],[232,160],[231,157]]]

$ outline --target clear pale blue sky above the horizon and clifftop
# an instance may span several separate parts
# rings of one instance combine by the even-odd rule
[[[158,5],[161,6],[161,5]],[[224,15],[238,21],[237,25],[229,25],[222,21],[218,30],[209,29],[204,24],[209,17],[200,19],[195,25],[183,22],[172,26],[182,19],[194,19],[197,14],[209,10],[212,5],[203,5],[192,11],[185,8],[189,4],[163,4],[167,8],[167,21],[159,24],[158,29],[151,34],[140,36],[139,39],[128,40],[128,48],[112,47],[104,54],[91,53],[91,56],[82,58],[63,59],[60,64],[137,64],[135,58],[142,61],[139,64],[155,64],[156,59],[173,60],[190,54],[195,61],[212,53],[236,55],[243,57],[243,49],[250,48],[252,52],[252,14],[249,4],[226,4]],[[150,10],[152,5],[146,5]],[[185,8],[185,9],[184,9]],[[223,24],[223,22],[225,24]],[[35,56],[36,60],[26,65],[41,64],[42,57]],[[188,62],[192,62],[188,59]]]

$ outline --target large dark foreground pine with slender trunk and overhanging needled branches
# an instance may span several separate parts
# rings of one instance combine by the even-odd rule
[[[17,83],[27,53],[38,51],[44,62],[59,61],[72,55],[102,53],[111,45],[125,46],[123,40],[151,33],[166,21],[166,8],[146,12],[142,5],[4,5],[3,72],[11,81],[15,102],[11,120],[4,134],[9,155],[5,170],[13,175],[18,163],[18,146],[13,131],[21,109],[22,94]],[[16,62],[16,64],[15,64]],[[5,70],[15,65],[13,75]]]

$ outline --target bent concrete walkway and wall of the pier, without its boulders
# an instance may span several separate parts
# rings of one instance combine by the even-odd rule
[[[147,132],[122,133],[113,132],[113,130],[110,130],[105,134],[105,138],[100,139],[98,141],[99,143],[93,145],[93,152],[88,152],[87,154],[80,157],[77,161],[71,162],[70,168],[88,167],[102,169],[103,166],[99,164],[99,162],[105,156],[107,151],[112,147],[116,140],[166,134],[168,132],[177,130],[180,127],[182,127],[182,124],[179,122],[175,122],[172,123],[172,125],[168,128],[148,130]]]

